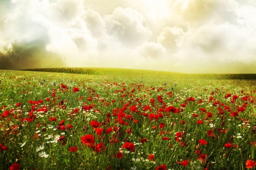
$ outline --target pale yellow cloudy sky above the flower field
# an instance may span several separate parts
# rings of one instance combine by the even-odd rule
[[[256,73],[256,0],[1,0],[0,69]]]

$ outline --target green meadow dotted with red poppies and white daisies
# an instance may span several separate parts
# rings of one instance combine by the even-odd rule
[[[255,74],[0,75],[0,169],[256,167]]]

